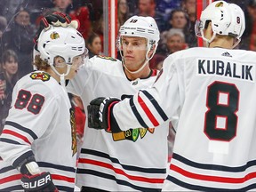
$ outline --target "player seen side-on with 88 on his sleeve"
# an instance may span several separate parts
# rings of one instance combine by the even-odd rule
[[[0,191],[75,188],[75,117],[64,82],[76,75],[88,51],[71,27],[42,31],[37,48],[38,70],[15,85],[0,136]]]

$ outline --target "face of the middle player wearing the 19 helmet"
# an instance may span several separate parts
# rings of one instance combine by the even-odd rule
[[[123,36],[124,63],[129,70],[137,70],[146,60],[147,40],[142,37]]]

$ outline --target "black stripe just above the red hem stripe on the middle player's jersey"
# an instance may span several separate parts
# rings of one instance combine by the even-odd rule
[[[92,156],[100,156],[103,158],[108,158],[112,163],[114,164],[120,164],[119,160],[109,156],[106,153],[102,153],[100,151],[92,150],[92,149],[87,149],[87,148],[82,148],[81,149],[81,154],[90,154]],[[135,172],[146,172],[146,173],[166,173],[166,169],[159,169],[159,168],[143,168],[143,167],[138,167],[138,166],[132,166],[132,165],[126,165],[126,164],[120,164],[124,170],[127,171],[135,171]]]

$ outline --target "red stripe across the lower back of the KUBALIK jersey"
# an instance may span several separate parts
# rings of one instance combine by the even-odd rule
[[[212,176],[212,175],[210,176],[210,175],[203,175],[203,174],[188,172],[174,164],[172,164],[170,168],[172,171],[179,172],[180,174],[184,175],[185,177],[188,177],[191,179],[196,179],[196,180],[207,180],[207,181],[212,181],[212,182],[244,183],[247,180],[256,178],[256,172],[248,173],[242,178],[228,178],[228,177],[220,177],[220,176]]]

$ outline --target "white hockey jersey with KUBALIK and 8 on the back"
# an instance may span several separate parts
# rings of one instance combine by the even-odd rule
[[[255,191],[255,61],[242,50],[176,52],[151,89],[114,106],[124,130],[180,116],[163,191]]]

